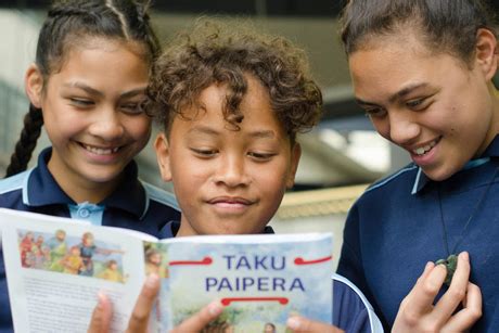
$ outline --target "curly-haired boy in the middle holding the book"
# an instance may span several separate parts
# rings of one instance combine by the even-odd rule
[[[172,182],[182,212],[163,236],[272,233],[267,223],[294,184],[296,135],[312,128],[322,112],[305,52],[282,37],[202,22],[164,51],[148,94],[148,112],[163,128],[155,141],[161,175]],[[146,325],[155,279],[139,297],[133,331]],[[295,331],[371,332],[378,320],[344,280],[334,281],[333,308],[336,328],[298,317],[287,324]],[[200,331],[220,313],[214,302],[174,332]],[[108,316],[101,297],[91,329],[105,326]]]

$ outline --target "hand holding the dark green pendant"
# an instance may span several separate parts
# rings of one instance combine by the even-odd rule
[[[447,270],[444,265],[426,264],[409,295],[398,309],[393,332],[462,332],[482,317],[482,293],[469,281],[470,257],[463,252],[449,290],[433,305]],[[456,312],[459,305],[462,309]]]

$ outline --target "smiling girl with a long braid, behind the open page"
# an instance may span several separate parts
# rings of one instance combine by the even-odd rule
[[[133,0],[69,0],[49,10],[26,71],[30,101],[0,207],[86,219],[159,235],[180,218],[171,194],[138,179],[151,135],[142,111],[159,47]],[[24,171],[44,125],[51,148]],[[12,330],[0,252],[0,331]]]

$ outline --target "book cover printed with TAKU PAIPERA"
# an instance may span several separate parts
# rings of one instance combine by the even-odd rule
[[[332,235],[318,233],[171,242],[163,326],[178,325],[213,299],[226,307],[213,332],[285,332],[293,312],[331,322],[332,251]]]

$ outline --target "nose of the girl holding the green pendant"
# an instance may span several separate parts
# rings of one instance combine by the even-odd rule
[[[389,139],[398,145],[409,144],[420,135],[421,127],[410,111],[389,114]]]

